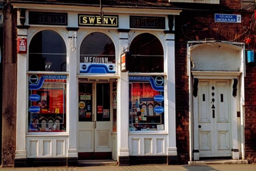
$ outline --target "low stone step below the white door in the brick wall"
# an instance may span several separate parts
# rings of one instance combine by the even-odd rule
[[[189,165],[230,165],[230,164],[248,164],[247,160],[200,160],[200,161],[189,161]]]

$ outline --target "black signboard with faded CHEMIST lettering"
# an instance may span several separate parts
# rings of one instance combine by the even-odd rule
[[[29,24],[67,25],[67,13],[29,11]]]

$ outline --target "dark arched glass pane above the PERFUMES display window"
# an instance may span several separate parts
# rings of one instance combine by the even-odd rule
[[[61,36],[43,30],[29,44],[29,71],[66,71],[66,45]]]

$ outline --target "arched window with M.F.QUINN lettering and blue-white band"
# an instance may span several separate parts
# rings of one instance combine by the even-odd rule
[[[115,73],[115,46],[108,35],[94,32],[82,41],[80,73]]]

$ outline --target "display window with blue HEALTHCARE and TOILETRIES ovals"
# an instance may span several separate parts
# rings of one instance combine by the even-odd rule
[[[162,76],[129,76],[129,130],[164,130]]]

